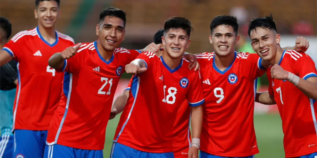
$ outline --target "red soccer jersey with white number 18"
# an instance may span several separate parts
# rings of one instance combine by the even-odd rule
[[[171,70],[152,52],[137,58],[146,63],[147,70],[133,78],[114,142],[145,152],[172,152],[174,122],[181,103],[185,99],[190,106],[204,102],[199,72],[188,70],[185,59]]]

